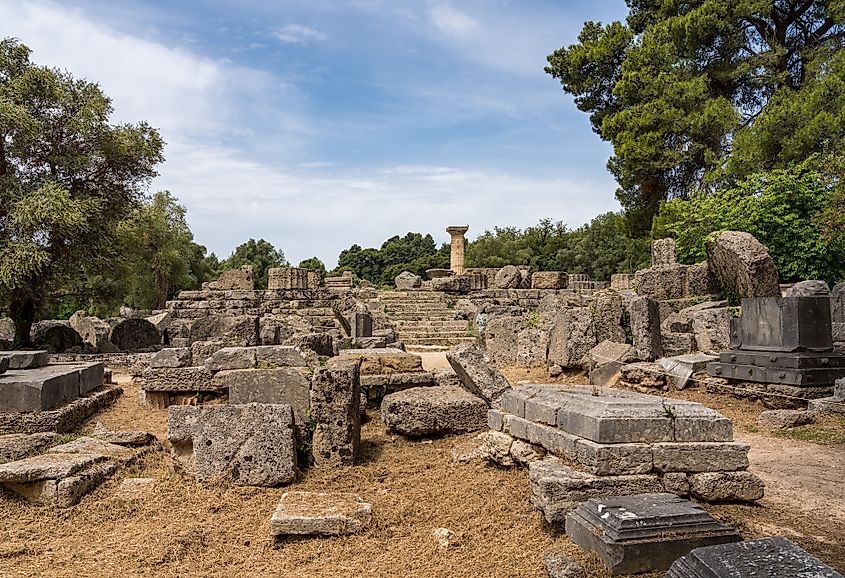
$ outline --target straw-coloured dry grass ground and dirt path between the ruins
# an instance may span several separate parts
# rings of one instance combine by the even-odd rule
[[[547,381],[539,374],[507,373],[514,382]],[[99,419],[166,439],[166,411],[141,408],[137,387],[123,385],[125,395]],[[753,416],[762,408],[748,401],[698,391],[681,395],[736,420],[738,437],[754,448],[752,469],[768,484],[760,506],[717,506],[711,512],[747,537],[782,534],[845,568],[845,446],[756,431]],[[87,424],[83,432],[92,427]],[[845,422],[819,427],[845,431]],[[283,488],[200,487],[173,472],[166,451],[121,472],[67,510],[3,496],[0,576],[539,577],[545,576],[548,549],[581,560],[589,576],[608,575],[531,507],[525,470],[452,464],[452,446],[468,437],[409,440],[390,435],[374,415],[363,428],[360,465],[306,472],[293,487],[356,492],[373,504],[373,525],[350,537],[274,544],[269,519]],[[795,478],[795,472],[804,477]],[[117,498],[115,490],[127,476],[156,477],[159,483],[141,499]],[[796,485],[804,494],[795,494]],[[439,527],[456,536],[445,551],[431,536]]]

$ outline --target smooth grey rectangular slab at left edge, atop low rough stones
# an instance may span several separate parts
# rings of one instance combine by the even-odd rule
[[[56,363],[0,377],[0,412],[53,409],[103,384],[102,363]]]

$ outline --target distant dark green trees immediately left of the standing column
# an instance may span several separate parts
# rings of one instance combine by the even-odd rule
[[[392,285],[402,271],[423,275],[427,269],[449,267],[449,245],[438,249],[431,235],[396,235],[382,243],[380,249],[352,245],[341,251],[337,265],[333,275],[352,271],[375,285]]]

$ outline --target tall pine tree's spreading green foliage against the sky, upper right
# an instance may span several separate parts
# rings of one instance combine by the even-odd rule
[[[841,143],[841,0],[630,0],[586,22],[546,72],[613,144],[608,169],[635,235],[660,203],[783,168]]]

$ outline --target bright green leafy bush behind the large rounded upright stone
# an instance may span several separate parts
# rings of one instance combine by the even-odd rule
[[[834,216],[841,207],[842,181],[822,167],[836,163],[813,157],[753,174],[735,187],[669,201],[652,234],[674,237],[679,260],[694,263],[706,258],[708,235],[746,231],[768,247],[784,282],[845,280],[845,227],[841,213]]]

